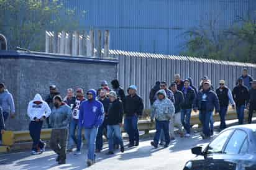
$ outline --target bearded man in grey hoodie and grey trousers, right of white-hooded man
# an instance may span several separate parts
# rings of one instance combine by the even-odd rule
[[[72,112],[60,96],[53,97],[53,104],[52,114],[50,114],[50,125],[52,127],[50,148],[58,154],[56,159],[58,164],[65,164],[68,125],[72,119]]]

